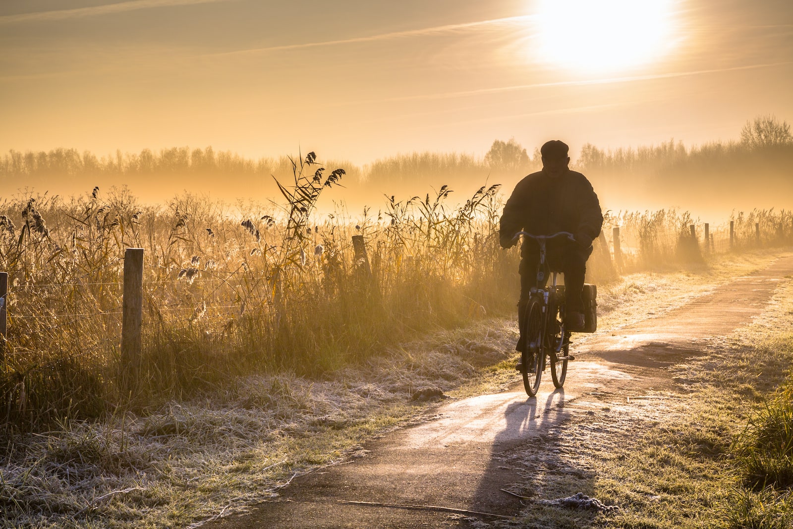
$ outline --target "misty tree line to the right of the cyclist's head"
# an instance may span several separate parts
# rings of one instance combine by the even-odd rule
[[[772,195],[780,207],[793,205],[793,136],[787,121],[773,116],[747,121],[740,140],[690,148],[674,140],[613,150],[584,144],[575,167],[607,196],[767,205]]]

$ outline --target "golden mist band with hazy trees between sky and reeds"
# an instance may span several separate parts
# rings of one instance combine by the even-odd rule
[[[758,116],[747,121],[740,140],[687,146],[668,140],[636,148],[583,144],[571,168],[586,175],[604,210],[682,209],[695,217],[722,221],[752,209],[793,208],[793,139],[787,121]],[[302,153],[305,155],[306,153]],[[514,138],[495,140],[484,156],[419,151],[372,163],[333,159],[319,151],[329,171],[343,168],[343,188],[318,204],[320,213],[359,216],[382,209],[385,197],[397,201],[432,194],[449,186],[450,203],[465,201],[481,186],[500,184],[505,196],[526,174],[542,168],[538,147]],[[301,159],[301,154],[291,159]],[[282,200],[275,179],[292,180],[288,155],[250,159],[212,147],[178,147],[99,156],[90,151],[9,151],[0,156],[0,196],[26,194],[68,197],[126,187],[148,204],[193,194],[230,205]],[[707,218],[705,218],[707,217]]]

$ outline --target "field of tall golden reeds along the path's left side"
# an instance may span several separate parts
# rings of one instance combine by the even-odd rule
[[[10,274],[2,424],[35,430],[144,409],[251,373],[321,378],[411,335],[514,312],[519,255],[498,245],[497,184],[457,204],[441,186],[386,197],[377,211],[320,215],[345,171],[326,170],[313,153],[289,170],[278,204],[232,208],[182,194],[152,206],[98,188],[0,203],[0,271]],[[793,240],[785,211],[737,214],[732,243],[727,224],[711,227],[706,243],[688,212],[606,218],[590,282]],[[144,248],[143,358],[132,389],[119,384],[128,247]]]

